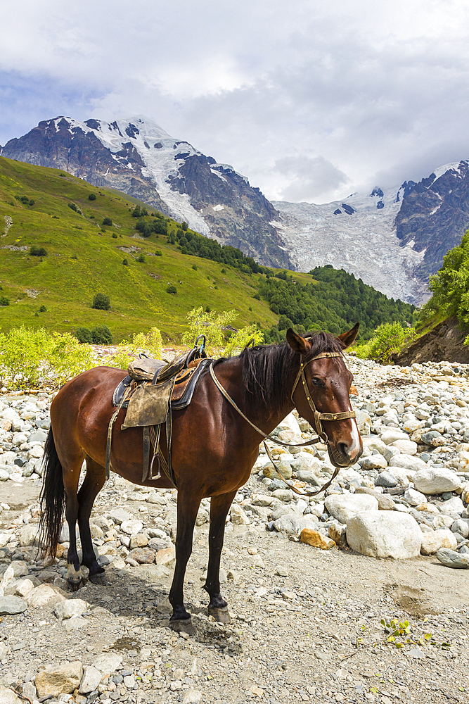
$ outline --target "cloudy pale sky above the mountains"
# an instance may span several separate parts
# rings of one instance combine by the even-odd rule
[[[0,144],[147,115],[270,199],[469,157],[466,0],[3,0]]]

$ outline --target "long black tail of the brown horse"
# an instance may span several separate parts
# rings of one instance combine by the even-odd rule
[[[41,518],[39,520],[39,548],[42,553],[56,556],[58,539],[62,531],[65,489],[63,487],[62,465],[53,440],[52,427],[44,448],[44,475],[39,497]]]

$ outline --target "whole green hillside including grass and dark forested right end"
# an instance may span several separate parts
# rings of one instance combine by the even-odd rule
[[[195,306],[234,309],[236,327],[257,323],[267,341],[288,325],[337,333],[356,320],[368,339],[376,325],[413,318],[413,306],[343,270],[267,269],[120,191],[3,157],[0,286],[3,332],[105,324],[115,341],[154,326],[179,341]],[[91,308],[97,293],[110,310]]]

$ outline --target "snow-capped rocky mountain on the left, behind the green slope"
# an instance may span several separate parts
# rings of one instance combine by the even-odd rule
[[[115,122],[44,120],[11,139],[1,155],[119,189],[260,263],[291,267],[271,225],[278,213],[259,189],[143,115]]]

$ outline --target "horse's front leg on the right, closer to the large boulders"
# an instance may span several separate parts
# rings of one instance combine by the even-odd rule
[[[220,610],[226,610],[228,604],[220,593],[220,559],[223,548],[226,515],[236,491],[221,496],[212,496],[210,501],[210,533],[208,539],[208,567],[204,589],[210,596],[209,612],[219,621],[226,621],[229,615],[222,615]]]

